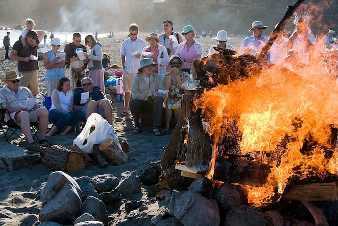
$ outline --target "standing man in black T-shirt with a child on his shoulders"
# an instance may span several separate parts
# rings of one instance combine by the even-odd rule
[[[39,69],[38,64],[38,48],[39,43],[44,39],[44,31],[31,30],[27,32],[26,44],[24,48],[22,42],[18,40],[12,47],[9,58],[18,61],[19,75],[23,75],[20,79],[20,86],[27,87],[32,91],[33,95],[39,94],[38,75],[36,70]]]

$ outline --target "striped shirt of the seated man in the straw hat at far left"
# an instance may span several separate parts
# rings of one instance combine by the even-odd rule
[[[8,87],[0,90],[0,103],[3,108],[24,108],[28,97],[34,98],[35,96],[26,87],[19,87],[17,93]]]

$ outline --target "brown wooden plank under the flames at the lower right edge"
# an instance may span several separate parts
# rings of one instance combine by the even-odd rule
[[[330,183],[290,184],[283,198],[297,201],[334,201],[338,200],[338,185]]]

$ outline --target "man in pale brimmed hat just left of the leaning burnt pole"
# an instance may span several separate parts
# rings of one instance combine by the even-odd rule
[[[261,52],[264,45],[266,45],[268,38],[264,37],[263,30],[266,29],[267,26],[263,25],[260,21],[255,21],[251,24],[252,35],[246,37],[241,44],[240,54],[248,53],[252,55],[257,55]],[[267,57],[268,58],[268,57]]]

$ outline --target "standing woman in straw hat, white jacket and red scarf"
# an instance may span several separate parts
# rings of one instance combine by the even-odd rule
[[[154,67],[154,72],[161,76],[167,72],[166,66],[169,62],[168,51],[165,46],[160,45],[160,39],[156,33],[150,33],[145,41],[149,43],[149,46],[143,48],[141,57],[149,58],[152,62],[157,64]],[[163,76],[162,76],[163,77]]]

